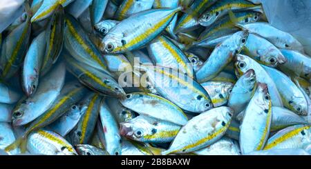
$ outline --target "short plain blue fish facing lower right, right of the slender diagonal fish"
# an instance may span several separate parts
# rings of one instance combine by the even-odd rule
[[[249,34],[245,48],[250,57],[266,66],[276,67],[287,61],[278,48],[255,34]]]

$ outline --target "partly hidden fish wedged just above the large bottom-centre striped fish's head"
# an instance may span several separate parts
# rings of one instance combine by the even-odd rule
[[[201,83],[201,86],[205,88],[209,97],[211,97],[211,103],[213,103],[214,107],[219,107],[228,103],[234,84],[223,81],[208,81]]]

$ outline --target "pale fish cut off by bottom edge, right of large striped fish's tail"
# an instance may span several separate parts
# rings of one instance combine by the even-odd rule
[[[211,144],[211,146],[207,146],[206,148],[196,150],[194,154],[196,155],[241,155],[241,151],[236,141],[233,141],[232,139],[229,139],[227,137],[223,137],[220,140],[218,140],[216,143]]]

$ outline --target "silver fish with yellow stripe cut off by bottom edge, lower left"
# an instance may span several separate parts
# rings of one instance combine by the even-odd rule
[[[32,132],[28,137],[27,149],[32,155],[77,155],[66,139],[48,130]]]

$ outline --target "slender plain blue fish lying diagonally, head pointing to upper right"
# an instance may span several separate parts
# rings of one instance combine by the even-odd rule
[[[220,46],[217,46],[202,68],[196,72],[198,82],[202,83],[216,77],[232,61],[234,55],[242,50],[247,42],[247,37],[247,32],[236,32],[232,37],[221,43]]]

